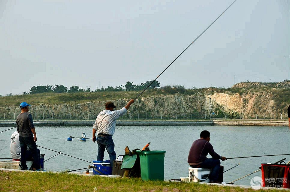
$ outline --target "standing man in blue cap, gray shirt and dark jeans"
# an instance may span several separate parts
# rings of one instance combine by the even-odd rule
[[[32,170],[40,170],[39,154],[36,147],[36,132],[32,120],[32,115],[28,113],[29,104],[22,102],[20,104],[21,113],[16,118],[17,131],[19,133],[19,142],[21,150],[21,166],[23,170],[27,170],[26,165],[26,149],[27,147],[33,156]]]

